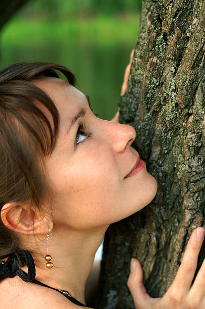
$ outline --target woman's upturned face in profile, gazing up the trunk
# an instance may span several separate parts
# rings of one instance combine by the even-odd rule
[[[46,78],[35,85],[52,98],[60,115],[57,143],[45,161],[55,189],[53,223],[95,228],[145,207],[156,194],[155,179],[143,165],[125,178],[139,159],[131,147],[135,130],[97,118],[87,97],[60,79]]]

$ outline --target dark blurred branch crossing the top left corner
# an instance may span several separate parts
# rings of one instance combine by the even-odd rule
[[[28,0],[1,0],[0,2],[0,30],[10,20],[10,18],[20,9]]]

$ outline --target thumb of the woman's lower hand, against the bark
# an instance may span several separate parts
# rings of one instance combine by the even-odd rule
[[[127,281],[136,309],[151,308],[151,297],[143,284],[143,269],[136,259],[131,259],[130,274]]]

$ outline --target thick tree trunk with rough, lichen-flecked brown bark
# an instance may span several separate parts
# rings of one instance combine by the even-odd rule
[[[192,229],[205,224],[204,42],[205,0],[144,0],[120,122],[136,129],[134,147],[158,193],[107,231],[97,308],[134,308],[126,287],[132,257],[148,292],[162,296]],[[199,265],[204,256],[202,249]]]

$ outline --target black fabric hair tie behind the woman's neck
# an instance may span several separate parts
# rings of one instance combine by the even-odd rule
[[[20,268],[27,265],[28,275]],[[7,262],[0,261],[0,280],[19,276],[25,282],[35,279],[36,269],[31,253],[27,250],[19,250],[9,256]]]

